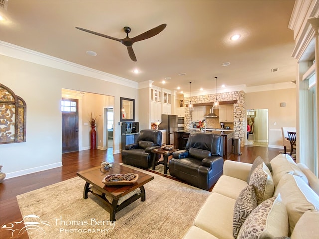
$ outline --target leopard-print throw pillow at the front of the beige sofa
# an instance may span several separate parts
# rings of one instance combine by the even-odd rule
[[[280,194],[258,205],[247,217],[237,239],[270,239],[288,236],[288,216]]]

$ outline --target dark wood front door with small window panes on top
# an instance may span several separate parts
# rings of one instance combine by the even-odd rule
[[[78,100],[62,98],[62,153],[79,151]]]

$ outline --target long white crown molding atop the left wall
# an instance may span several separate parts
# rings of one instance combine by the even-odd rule
[[[62,60],[57,57],[49,56],[37,51],[23,48],[11,43],[0,41],[0,54],[9,56],[23,61],[32,62],[35,64],[52,67],[62,71],[67,71],[95,79],[111,82],[118,85],[128,86],[138,89],[139,84],[135,81],[128,80],[119,76],[115,76],[103,71],[98,71],[86,66],[82,66],[70,61]]]

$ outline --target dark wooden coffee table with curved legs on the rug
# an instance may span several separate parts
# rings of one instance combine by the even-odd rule
[[[141,198],[141,201],[145,201],[145,189],[143,185],[153,180],[154,178],[153,176],[142,173],[140,171],[133,170],[131,168],[128,168],[119,164],[113,164],[113,167],[107,172],[101,172],[100,168],[101,167],[95,167],[95,168],[78,172],[76,174],[86,181],[84,185],[84,190],[83,190],[83,198],[87,199],[88,192],[91,192],[96,197],[102,199],[110,209],[110,221],[115,221],[115,214],[119,212],[121,209],[128,206],[129,204],[136,201],[137,199]],[[102,179],[106,177],[107,175],[122,174],[122,173],[136,173],[139,175],[139,178],[132,185],[106,186],[104,183],[102,183]],[[98,195],[94,193],[92,191],[92,186],[102,191],[105,195]],[[117,205],[121,197],[132,192],[133,190],[137,188],[140,188],[141,193],[135,194],[131,196],[130,198],[128,198],[127,200],[125,200],[124,202],[122,202],[120,205]],[[112,197],[113,199],[112,203],[109,203],[109,201],[105,198],[106,195]]]

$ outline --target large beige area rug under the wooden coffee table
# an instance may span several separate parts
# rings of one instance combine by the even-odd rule
[[[24,223],[38,223],[26,224],[30,239],[182,238],[210,192],[135,169],[154,176],[144,185],[146,201],[122,209],[114,224],[101,200],[91,193],[83,199],[79,177],[18,195]]]

